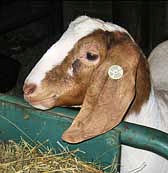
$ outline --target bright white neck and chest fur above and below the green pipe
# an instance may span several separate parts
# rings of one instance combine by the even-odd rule
[[[166,96],[162,97],[162,94]],[[168,93],[151,90],[150,97],[140,113],[132,113],[125,121],[156,128],[168,132]],[[168,161],[159,155],[135,149],[129,146],[122,146],[121,173],[167,173]]]

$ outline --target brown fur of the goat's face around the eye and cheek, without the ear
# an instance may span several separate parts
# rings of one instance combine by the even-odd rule
[[[63,63],[54,67],[46,74],[42,81],[41,92],[37,93],[37,98],[46,97],[50,93],[54,93],[55,98],[59,97],[50,107],[82,104],[91,74],[106,56],[105,38],[103,31],[96,31],[79,40]],[[98,64],[89,64],[82,57],[83,52],[81,50],[85,50],[85,47],[88,45],[95,47],[100,57]],[[88,47],[88,50],[91,49],[90,47]],[[69,68],[73,68],[73,76],[68,75],[67,71]]]

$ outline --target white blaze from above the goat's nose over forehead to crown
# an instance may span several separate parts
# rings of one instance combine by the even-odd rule
[[[26,82],[35,83],[37,85],[40,84],[45,78],[46,73],[52,70],[55,66],[60,65],[68,55],[68,52],[73,49],[74,45],[81,38],[98,29],[109,32],[120,31],[127,33],[122,27],[109,22],[104,22],[87,16],[78,17],[70,23],[68,29],[62,35],[60,40],[53,44],[53,46],[51,46],[51,48],[49,48],[43,55],[26,78]]]

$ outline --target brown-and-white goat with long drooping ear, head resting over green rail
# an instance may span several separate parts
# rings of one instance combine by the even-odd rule
[[[78,143],[124,121],[168,132],[168,93],[156,90],[148,62],[122,27],[80,16],[41,58],[24,83],[38,109],[82,105],[62,139]],[[166,173],[168,161],[122,146],[121,173]]]

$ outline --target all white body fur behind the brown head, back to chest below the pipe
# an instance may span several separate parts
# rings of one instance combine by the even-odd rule
[[[138,115],[132,113],[125,121],[152,127],[168,133],[168,41],[150,54],[152,90]],[[168,160],[154,153],[122,146],[121,173],[167,173]]]

